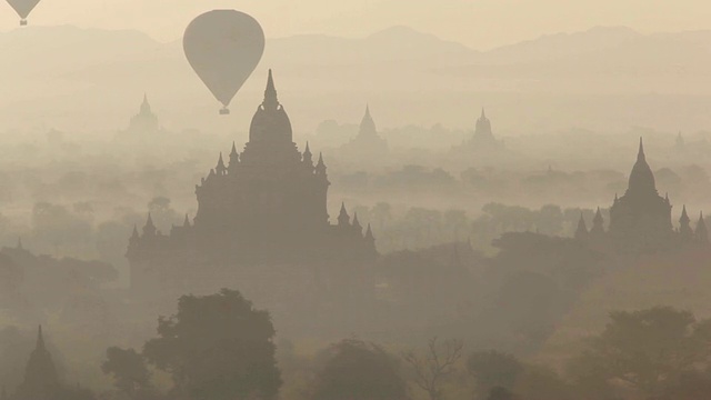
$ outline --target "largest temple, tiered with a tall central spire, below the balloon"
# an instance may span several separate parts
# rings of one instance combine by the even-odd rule
[[[250,291],[306,290],[333,284],[336,271],[362,271],[377,257],[370,227],[344,206],[338,222],[329,222],[327,167],[321,154],[313,158],[308,144],[300,152],[293,142],[269,71],[249,142],[241,153],[234,144],[227,159],[220,153],[196,186],[194,219],[163,234],[149,214],[142,232],[134,229],[127,251],[131,288],[183,294],[232,287],[260,300],[264,293]]]

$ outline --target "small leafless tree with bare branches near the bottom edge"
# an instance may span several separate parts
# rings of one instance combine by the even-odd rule
[[[427,356],[419,357],[412,351],[403,354],[404,360],[414,370],[414,383],[428,393],[430,400],[442,398],[440,383],[454,372],[463,347],[461,340],[454,339],[438,346],[434,337],[428,342]]]

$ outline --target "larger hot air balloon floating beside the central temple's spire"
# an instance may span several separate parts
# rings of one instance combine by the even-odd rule
[[[182,39],[188,62],[229,114],[228,106],[264,52],[264,32],[237,10],[206,12],[190,22]]]

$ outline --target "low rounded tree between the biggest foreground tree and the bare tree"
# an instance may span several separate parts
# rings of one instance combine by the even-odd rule
[[[343,340],[327,352],[314,400],[403,400],[407,386],[395,361],[377,344]]]

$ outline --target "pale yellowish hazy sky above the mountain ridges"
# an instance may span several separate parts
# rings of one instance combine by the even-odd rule
[[[0,6],[0,29],[13,29],[17,17]],[[270,38],[367,37],[403,24],[479,50],[597,26],[711,29],[708,0],[43,0],[30,23],[136,29],[172,41],[192,18],[224,8],[252,14]]]

